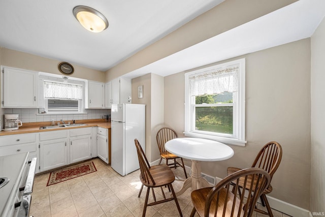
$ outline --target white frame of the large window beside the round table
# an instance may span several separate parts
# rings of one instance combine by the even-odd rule
[[[195,130],[195,107],[202,107],[205,105],[195,105],[195,97],[191,97],[189,92],[189,77],[193,74],[213,71],[215,69],[224,68],[235,64],[239,64],[239,84],[238,92],[233,94],[233,135]],[[229,106],[229,104],[207,104],[206,106]],[[247,141],[245,141],[245,58],[185,73],[184,135],[188,137],[211,139],[232,145],[245,146],[247,143]]]

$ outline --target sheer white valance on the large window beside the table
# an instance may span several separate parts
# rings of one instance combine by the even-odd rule
[[[190,96],[238,91],[239,64],[190,75]]]

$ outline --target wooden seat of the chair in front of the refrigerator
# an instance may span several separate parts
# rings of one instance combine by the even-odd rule
[[[142,184],[146,187],[161,187],[175,181],[175,175],[173,171],[166,164],[152,166],[149,171],[152,175],[153,180],[155,181],[155,184],[153,184],[152,182],[146,182],[144,179],[141,178],[140,175],[140,180]]]

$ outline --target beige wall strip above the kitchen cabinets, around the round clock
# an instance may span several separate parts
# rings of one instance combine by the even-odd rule
[[[36,72],[47,72],[57,75],[62,75],[58,70],[58,64],[61,62],[55,59],[49,59],[29,53],[24,53],[16,50],[10,50],[0,47],[0,65],[26,69]],[[75,72],[70,77],[83,78],[93,81],[105,81],[105,73],[98,70],[93,70],[78,65],[73,65]]]

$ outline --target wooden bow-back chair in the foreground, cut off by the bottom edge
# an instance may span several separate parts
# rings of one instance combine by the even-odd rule
[[[222,179],[215,187],[193,191],[191,200],[194,207],[190,216],[196,212],[206,217],[252,216],[259,196],[270,181],[269,173],[261,168],[237,171]],[[239,188],[241,182],[244,188]],[[237,191],[241,194],[237,195]]]

